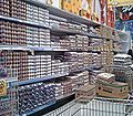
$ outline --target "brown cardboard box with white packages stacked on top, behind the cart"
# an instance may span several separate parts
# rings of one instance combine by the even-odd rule
[[[98,74],[95,86],[98,96],[126,98],[129,95],[127,83],[116,82],[114,74],[110,73]]]

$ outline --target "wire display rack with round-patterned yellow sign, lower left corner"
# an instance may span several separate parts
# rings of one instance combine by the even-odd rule
[[[0,115],[17,116],[18,115],[18,86],[17,75],[10,68],[0,68],[7,76],[0,74]]]

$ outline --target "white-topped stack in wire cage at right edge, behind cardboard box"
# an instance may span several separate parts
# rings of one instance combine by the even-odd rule
[[[129,83],[130,91],[133,89],[133,65],[130,55],[117,54],[113,59],[113,73],[116,81]]]

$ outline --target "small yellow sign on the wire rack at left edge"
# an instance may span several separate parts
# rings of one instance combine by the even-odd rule
[[[0,80],[0,96],[7,95],[7,82],[6,80]]]

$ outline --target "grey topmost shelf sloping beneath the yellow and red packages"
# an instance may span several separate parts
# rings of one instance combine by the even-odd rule
[[[86,24],[86,25],[92,25],[92,27],[100,27],[101,25],[99,22],[93,22],[89,19],[82,18],[82,17],[73,14],[71,12],[66,12],[64,10],[54,8],[52,6],[44,4],[43,2],[40,2],[38,0],[37,1],[35,0],[24,0],[24,1],[28,1],[31,4],[39,6],[41,8],[48,9],[50,14],[61,17],[61,18],[68,19],[70,21],[75,21],[75,22]]]

